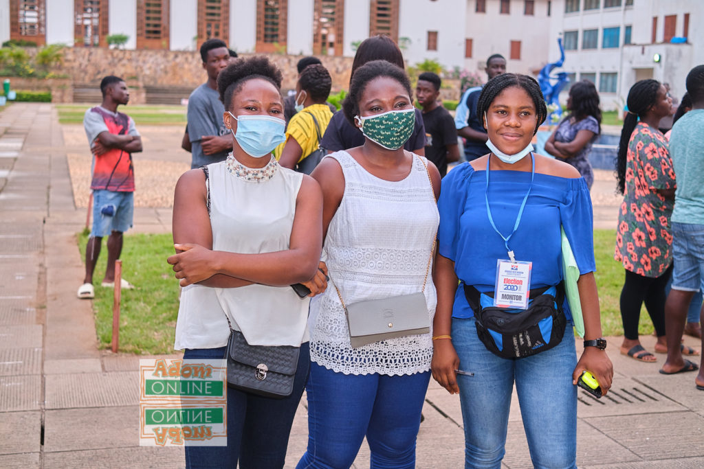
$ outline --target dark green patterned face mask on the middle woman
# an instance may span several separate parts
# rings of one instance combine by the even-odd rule
[[[367,139],[378,143],[386,150],[398,150],[410,139],[415,126],[415,109],[390,110],[388,113],[354,117]]]

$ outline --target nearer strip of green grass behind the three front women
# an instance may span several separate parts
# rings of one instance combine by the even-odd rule
[[[85,252],[88,236],[79,235],[80,250]],[[604,335],[622,335],[619,297],[624,270],[613,259],[616,234],[612,230],[594,232],[596,283],[601,304]],[[96,267],[94,311],[96,330],[101,348],[108,349],[112,340],[113,290],[101,288],[105,272],[106,247],[103,242]],[[170,234],[126,235],[122,250],[122,276],[137,286],[122,290],[120,312],[120,352],[134,354],[173,353],[174,330],[178,313],[178,283],[166,258],[173,254]],[[641,312],[640,333],[653,332],[653,324]]]

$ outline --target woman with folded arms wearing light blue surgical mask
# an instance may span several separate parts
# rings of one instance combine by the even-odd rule
[[[282,468],[308,378],[308,299],[289,285],[313,278],[320,259],[318,183],[279,167],[282,75],[267,58],[232,63],[218,76],[232,153],[181,176],[168,259],[184,287],[176,349],[222,359],[230,326],[250,345],[301,346],[294,392],[270,399],[228,388],[227,447],[186,446],[189,468]]]

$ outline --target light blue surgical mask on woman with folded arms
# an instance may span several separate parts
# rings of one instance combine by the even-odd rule
[[[268,115],[241,115],[234,117],[237,121],[237,132],[230,129],[234,139],[247,155],[263,158],[270,155],[279,143],[286,141],[284,129],[286,122]]]

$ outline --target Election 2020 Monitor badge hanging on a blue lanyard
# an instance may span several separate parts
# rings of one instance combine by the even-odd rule
[[[498,259],[496,261],[496,290],[494,306],[528,309],[530,274],[533,263]]]

